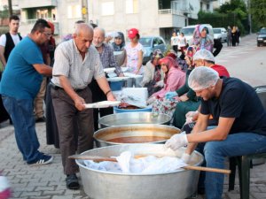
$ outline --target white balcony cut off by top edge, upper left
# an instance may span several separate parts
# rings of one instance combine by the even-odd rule
[[[35,0],[20,0],[19,2],[21,9],[26,8],[38,8],[38,7],[56,7],[58,6],[57,0],[42,0],[42,1],[35,1]]]

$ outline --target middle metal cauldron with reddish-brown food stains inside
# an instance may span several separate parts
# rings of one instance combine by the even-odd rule
[[[124,143],[164,143],[180,129],[165,125],[122,125],[102,128],[93,134],[97,147]]]

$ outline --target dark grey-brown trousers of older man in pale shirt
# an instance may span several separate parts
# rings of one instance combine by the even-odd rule
[[[90,88],[77,91],[86,103],[91,103]],[[51,99],[59,128],[59,143],[64,173],[73,174],[78,172],[78,166],[74,159],[67,158],[74,155],[75,150],[80,154],[93,148],[93,110],[78,111],[74,101],[66,94],[64,89],[51,88]],[[77,119],[77,129],[74,129],[74,119]],[[78,137],[76,142],[75,137]]]

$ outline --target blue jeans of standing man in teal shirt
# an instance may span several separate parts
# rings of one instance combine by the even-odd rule
[[[15,138],[27,163],[34,163],[42,154],[38,151],[40,143],[35,132],[35,118],[32,99],[15,99],[2,96],[4,108],[10,114],[15,128]]]

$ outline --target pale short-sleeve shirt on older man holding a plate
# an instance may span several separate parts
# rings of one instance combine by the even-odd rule
[[[105,77],[98,51],[93,46],[90,46],[82,60],[74,40],[61,42],[55,50],[54,59],[51,81],[59,87],[62,87],[60,75],[66,76],[74,89],[86,88],[92,77],[95,80]]]

